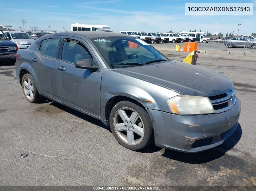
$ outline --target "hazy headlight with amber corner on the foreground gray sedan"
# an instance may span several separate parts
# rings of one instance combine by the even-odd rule
[[[208,97],[179,95],[168,100],[171,112],[180,115],[214,113]]]

